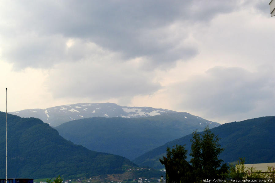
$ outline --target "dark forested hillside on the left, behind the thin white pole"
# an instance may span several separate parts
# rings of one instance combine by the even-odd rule
[[[6,172],[6,113],[0,112],[0,176]],[[123,173],[128,159],[88,150],[36,118],[8,114],[8,178],[90,177]]]

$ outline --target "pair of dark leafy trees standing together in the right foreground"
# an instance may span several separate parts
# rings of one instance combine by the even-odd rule
[[[195,131],[191,140],[190,156],[193,157],[190,160],[191,165],[186,160],[185,146],[176,145],[172,150],[167,147],[166,157],[160,159],[166,169],[166,182],[200,182],[203,179],[225,178],[228,167],[226,164],[221,165],[222,160],[218,159],[223,151],[218,141],[219,138],[209,130],[208,126],[203,135]]]

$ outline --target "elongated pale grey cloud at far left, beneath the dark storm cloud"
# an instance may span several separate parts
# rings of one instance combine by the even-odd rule
[[[76,62],[94,57],[99,61],[106,55],[112,54],[83,39],[71,39],[72,45],[67,46],[69,40],[61,35],[20,36],[10,39],[15,44],[6,46],[2,52],[2,58],[17,63],[13,68],[20,70],[26,67],[50,68],[59,62]]]

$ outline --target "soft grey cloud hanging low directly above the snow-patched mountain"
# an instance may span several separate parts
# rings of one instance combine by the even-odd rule
[[[135,95],[153,94],[161,88],[148,79],[146,73],[120,64],[61,64],[50,74],[47,84],[55,88],[55,98],[86,97],[91,100],[127,98]]]

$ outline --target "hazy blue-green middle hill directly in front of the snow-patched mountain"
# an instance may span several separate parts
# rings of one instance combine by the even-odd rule
[[[142,118],[85,118],[55,127],[75,144],[134,159],[165,142],[220,125],[186,112],[164,113]]]

